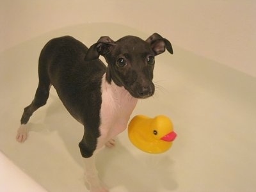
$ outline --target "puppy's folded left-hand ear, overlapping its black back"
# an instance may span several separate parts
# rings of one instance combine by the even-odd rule
[[[115,42],[109,38],[109,36],[102,36],[97,41],[96,44],[93,44],[84,57],[84,61],[91,61],[99,58],[100,55],[104,56],[108,54],[113,47],[115,46]]]

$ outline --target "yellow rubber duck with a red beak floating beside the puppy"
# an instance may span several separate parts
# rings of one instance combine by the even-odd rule
[[[170,118],[164,115],[149,118],[136,115],[128,125],[128,136],[132,144],[144,152],[163,153],[172,147],[177,134]]]

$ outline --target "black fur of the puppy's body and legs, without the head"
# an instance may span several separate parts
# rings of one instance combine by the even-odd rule
[[[26,124],[33,112],[44,106],[52,84],[65,108],[84,125],[86,134],[79,143],[83,157],[92,156],[100,136],[100,84],[106,72],[106,65],[99,59],[84,61],[87,51],[84,44],[71,36],[54,38],[45,45],[39,58],[35,99],[24,109],[20,121]]]

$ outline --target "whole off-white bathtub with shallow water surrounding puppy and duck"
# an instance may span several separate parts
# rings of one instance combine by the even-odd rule
[[[44,44],[62,35],[90,46],[104,35],[146,39],[154,32],[172,42],[174,54],[156,57],[156,93],[138,102],[132,116],[169,116],[177,139],[167,152],[147,154],[122,132],[115,148],[97,156],[100,178],[114,192],[255,190],[255,3],[1,4],[0,191],[87,191],[78,148],[83,127],[54,89],[31,117],[28,140],[15,141],[36,90]]]

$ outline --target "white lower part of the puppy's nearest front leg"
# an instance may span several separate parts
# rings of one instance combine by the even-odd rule
[[[95,165],[95,155],[92,157],[84,158],[84,177],[86,182],[90,185],[91,192],[108,192],[108,189],[104,187],[104,184],[99,179],[98,171]]]

